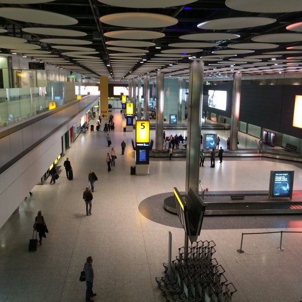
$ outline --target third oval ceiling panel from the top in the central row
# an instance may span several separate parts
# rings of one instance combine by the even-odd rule
[[[105,33],[104,36],[114,39],[149,40],[163,38],[165,37],[165,34],[148,30],[117,30]]]

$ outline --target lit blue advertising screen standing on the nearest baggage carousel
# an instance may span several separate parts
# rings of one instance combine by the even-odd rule
[[[292,197],[294,171],[271,171],[270,198]]]

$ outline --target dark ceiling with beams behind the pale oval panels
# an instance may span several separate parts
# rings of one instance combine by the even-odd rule
[[[146,1],[146,0],[141,0]],[[151,0],[152,1],[152,0]],[[0,3],[10,2],[0,1]],[[14,2],[14,1],[13,1]],[[17,1],[18,2],[18,1]],[[164,2],[164,0],[163,0]],[[265,2],[265,0],[264,0]],[[12,2],[11,2],[12,3]],[[22,1],[23,3],[23,1]],[[127,0],[125,0],[127,3]],[[75,25],[64,25],[64,26],[54,26],[54,25],[45,25],[45,24],[34,24],[28,22],[21,22],[18,20],[6,19],[4,16],[0,18],[0,27],[6,28],[7,33],[1,35],[15,36],[25,38],[28,43],[37,44],[41,46],[41,50],[50,50],[51,54],[57,55],[56,58],[63,58],[64,61],[59,61],[51,58],[45,58],[43,56],[37,55],[36,59],[43,59],[46,63],[54,64],[56,66],[61,66],[76,72],[86,74],[89,77],[97,78],[99,75],[108,75],[112,77],[113,80],[129,80],[131,78],[138,77],[143,74],[150,74],[150,77],[156,74],[156,70],[161,68],[163,72],[167,75],[173,77],[186,77],[188,75],[189,63],[192,62],[188,56],[200,56],[206,57],[211,56],[212,51],[216,50],[228,50],[228,45],[235,43],[230,40],[212,40],[206,42],[213,42],[216,46],[202,48],[202,52],[194,53],[191,52],[188,56],[179,58],[176,55],[171,55],[171,57],[158,57],[156,54],[161,53],[163,50],[171,49],[168,45],[171,43],[181,43],[181,42],[205,42],[205,41],[188,41],[182,40],[179,37],[182,35],[196,34],[196,33],[231,33],[240,35],[240,38],[236,40],[236,43],[251,43],[252,37],[263,35],[263,34],[275,34],[275,33],[288,33],[286,26],[301,22],[302,14],[301,12],[289,12],[289,13],[250,13],[243,12],[238,10],[233,10],[228,8],[225,5],[224,0],[199,0],[185,6],[169,7],[169,8],[123,8],[123,7],[114,7],[103,4],[97,0],[57,0],[48,3],[41,4],[0,4],[1,8],[27,8],[27,9],[36,9],[47,12],[54,12],[69,16],[78,20],[78,24]],[[1,9],[0,9],[1,11]],[[165,16],[170,16],[176,18],[178,23],[173,26],[168,26],[165,28],[158,28],[155,24],[154,28],[128,28],[128,27],[118,27],[109,24],[102,23],[99,19],[100,17],[116,14],[116,13],[154,13],[162,14]],[[201,22],[222,19],[222,18],[234,18],[234,17],[265,17],[276,19],[276,22],[264,25],[256,26],[249,28],[241,29],[226,29],[226,30],[207,30],[199,29],[197,25]],[[61,28],[61,29],[70,29],[77,30],[87,33],[84,37],[58,37],[51,35],[41,35],[41,34],[29,34],[22,31],[22,28],[28,27],[45,27],[45,28]],[[155,46],[142,47],[148,52],[146,55],[140,55],[139,58],[130,60],[128,57],[126,59],[118,58],[115,59],[111,56],[112,53],[116,51],[108,50],[106,48],[106,42],[113,41],[116,39],[108,38],[105,36],[106,33],[116,31],[116,30],[148,30],[164,33],[165,36],[159,39],[149,39],[145,40],[148,42],[161,42],[161,49],[155,48]],[[294,33],[294,32],[291,32]],[[302,35],[302,34],[301,34]],[[45,38],[71,38],[71,39],[83,39],[85,41],[91,41],[92,44],[89,45],[77,45],[83,47],[90,47],[95,49],[96,54],[89,54],[93,62],[89,62],[90,59],[81,57],[69,56],[65,53],[66,50],[53,48],[55,44],[40,42],[40,39]],[[302,39],[301,39],[302,41]],[[279,46],[274,48],[274,52],[284,52],[281,53],[278,57],[280,60],[279,68],[276,65],[272,64],[271,58],[261,59],[258,62],[238,62],[236,67],[238,70],[242,70],[244,74],[263,74],[263,73],[272,73],[272,72],[296,72],[299,71],[301,66],[300,58],[302,58],[302,47],[301,50],[296,50],[294,54],[290,53],[286,47],[302,45],[301,41],[290,41],[290,42],[281,42],[277,43]],[[0,43],[0,47],[2,45]],[[137,47],[135,47],[137,48]],[[174,48],[175,49],[175,48]],[[261,55],[266,52],[272,51],[271,49],[255,49],[252,53],[253,56]],[[2,48],[3,53],[10,53],[10,49]],[[287,52],[287,53],[286,53]],[[29,50],[25,53],[30,53]],[[237,54],[236,58],[245,61],[251,54]],[[286,58],[294,56],[298,57],[294,62],[288,61]],[[34,57],[34,56],[33,56]],[[175,58],[174,58],[175,57]],[[233,56],[234,57],[234,56]],[[273,57],[273,56],[272,56]],[[95,59],[99,60],[96,61]],[[146,59],[142,61],[142,58]],[[156,60],[156,58],[158,60]],[[160,62],[160,60],[166,59],[165,61]],[[233,69],[230,66],[233,66],[234,62],[228,63],[228,60],[231,60],[230,57],[219,58],[223,62],[218,63],[214,59],[204,61],[205,64],[205,75],[208,77],[226,77],[232,75]],[[135,61],[136,60],[136,61]],[[218,59],[217,59],[218,60]],[[68,62],[68,63],[67,63]],[[143,62],[143,63],[142,63]],[[72,64],[70,64],[72,63]],[[109,64],[110,63],[110,64]],[[257,64],[256,64],[257,63]],[[109,66],[107,66],[109,65]],[[272,65],[274,67],[272,67]],[[248,66],[248,67],[246,67]],[[130,72],[131,71],[131,72]]]

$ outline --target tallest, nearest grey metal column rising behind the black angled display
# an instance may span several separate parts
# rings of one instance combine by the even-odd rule
[[[186,163],[186,195],[189,189],[198,193],[203,91],[203,61],[190,63],[188,98],[188,140]]]

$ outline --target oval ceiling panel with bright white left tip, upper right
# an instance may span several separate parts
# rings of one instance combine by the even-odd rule
[[[276,19],[262,17],[237,17],[205,21],[197,25],[201,29],[240,29],[264,26],[276,22]]]

